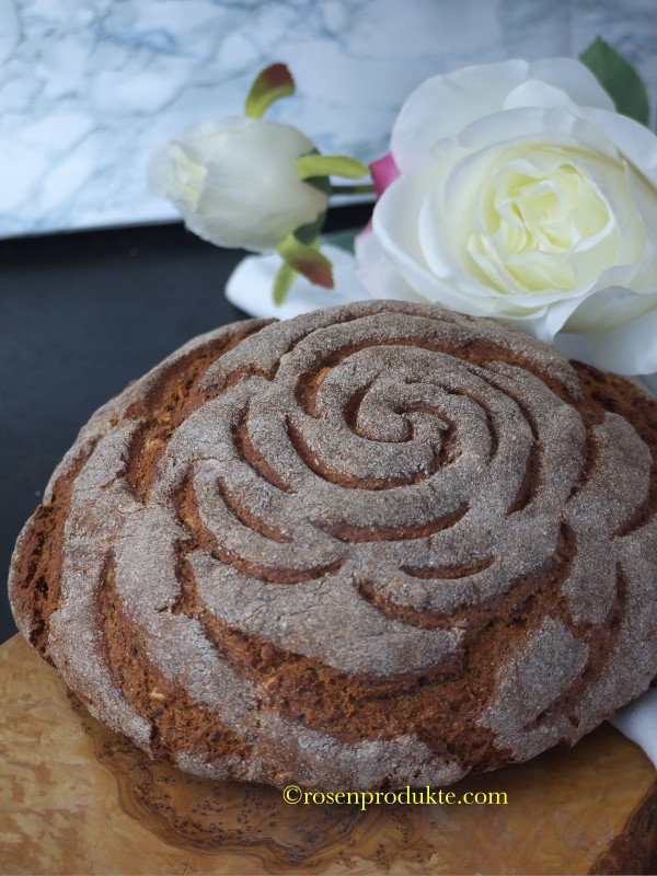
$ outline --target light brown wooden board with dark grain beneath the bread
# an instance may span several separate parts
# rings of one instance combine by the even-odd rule
[[[453,786],[507,806],[290,806],[153,763],[22,637],[0,647],[0,871],[12,874],[639,873],[654,769],[609,726]]]

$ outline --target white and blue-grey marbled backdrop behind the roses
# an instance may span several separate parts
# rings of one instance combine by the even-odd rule
[[[273,117],[371,161],[427,76],[597,35],[654,99],[655,0],[0,0],[0,237],[174,218],[147,189],[151,151],[240,112],[274,60],[298,94]]]

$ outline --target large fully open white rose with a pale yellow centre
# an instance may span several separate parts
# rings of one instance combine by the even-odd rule
[[[657,371],[657,137],[584,65],[470,67],[424,82],[394,125],[400,171],[358,242],[374,297],[428,300],[593,359]]]

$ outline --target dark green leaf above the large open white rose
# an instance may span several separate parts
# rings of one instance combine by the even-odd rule
[[[579,60],[607,91],[619,113],[642,125],[648,124],[650,107],[646,87],[630,61],[600,37],[581,53]]]

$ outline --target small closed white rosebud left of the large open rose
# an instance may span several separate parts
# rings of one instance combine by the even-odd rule
[[[204,240],[270,252],[326,210],[327,196],[299,177],[298,159],[313,148],[291,125],[203,122],[154,153],[149,183]]]

